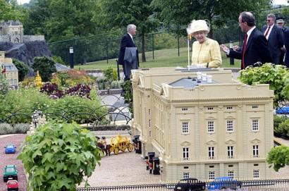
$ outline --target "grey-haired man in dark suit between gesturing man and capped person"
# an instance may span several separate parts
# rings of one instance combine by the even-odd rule
[[[267,16],[267,25],[262,27],[262,33],[268,40],[269,51],[271,53],[271,58],[273,63],[281,64],[281,54],[283,49],[283,32],[281,28],[275,25],[276,17],[273,14]]]

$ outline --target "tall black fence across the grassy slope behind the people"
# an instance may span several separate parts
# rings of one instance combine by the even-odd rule
[[[257,20],[257,27],[262,28],[262,25],[266,25],[266,16],[269,13],[274,13],[276,17],[283,16],[286,21],[289,20],[289,6],[281,8],[269,8],[266,10],[255,11],[254,15]],[[228,20],[226,24],[222,27],[214,25],[218,22],[218,18],[215,18],[211,23],[211,35],[213,39],[216,39],[219,44],[224,44],[228,42],[235,42],[242,44],[244,39],[244,34],[241,32],[238,25],[238,18],[235,20]],[[145,48],[144,51],[152,51],[153,56],[149,59],[157,58],[154,55],[154,50],[159,49],[173,49],[176,50],[176,54],[179,55],[180,47],[187,47],[187,36],[186,27],[182,26],[180,28],[180,33],[183,35],[177,35],[171,30],[161,30],[157,33],[148,34],[144,38]],[[73,47],[73,58],[74,64],[85,64],[92,61],[107,60],[109,58],[117,58],[120,49],[120,42],[123,32],[117,31],[109,34],[93,35],[90,37],[81,37],[76,39],[68,39],[61,42],[51,42],[49,43],[49,48],[53,55],[61,56],[63,61],[70,63],[69,48]],[[194,39],[192,39],[194,40]],[[136,46],[141,53],[141,37],[135,37]],[[178,51],[178,52],[177,52]]]

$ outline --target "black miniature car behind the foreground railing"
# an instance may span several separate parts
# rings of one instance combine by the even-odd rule
[[[174,191],[205,190],[205,189],[206,183],[197,180],[197,178],[185,178],[180,180],[180,182],[176,184]]]

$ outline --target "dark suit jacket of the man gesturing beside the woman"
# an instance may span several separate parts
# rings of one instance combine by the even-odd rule
[[[230,49],[230,54],[228,55],[228,57],[242,59],[242,50],[243,47],[242,49],[240,49],[240,51],[234,51],[233,49]],[[272,61],[268,48],[268,42],[262,32],[260,32],[257,28],[254,28],[248,39],[244,59],[245,68],[247,66],[253,66],[253,64],[257,62],[271,63]]]

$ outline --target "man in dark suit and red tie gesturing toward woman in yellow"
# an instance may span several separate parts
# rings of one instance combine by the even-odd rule
[[[228,49],[221,44],[221,49],[226,52],[228,57],[241,59],[241,69],[247,66],[259,66],[257,63],[270,63],[272,61],[268,42],[262,32],[255,26],[255,17],[250,12],[242,12],[239,16],[239,26],[245,32],[245,40],[242,48]]]

